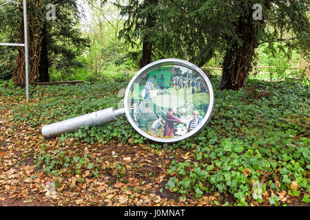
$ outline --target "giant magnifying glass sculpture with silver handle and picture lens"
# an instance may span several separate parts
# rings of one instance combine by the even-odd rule
[[[98,126],[125,114],[134,129],[149,140],[173,143],[197,135],[207,125],[214,107],[209,78],[196,65],[175,58],[155,61],[130,81],[124,108],[103,109],[42,127],[45,138]]]

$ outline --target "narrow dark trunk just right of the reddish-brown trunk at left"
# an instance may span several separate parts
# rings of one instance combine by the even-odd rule
[[[39,64],[39,82],[50,82],[50,75],[48,69],[50,63],[48,62],[48,42],[46,39],[46,25],[44,23],[42,30],[42,41],[41,41],[41,56]]]

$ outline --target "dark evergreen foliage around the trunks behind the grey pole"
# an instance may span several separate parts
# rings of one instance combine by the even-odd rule
[[[87,47],[89,40],[83,38],[79,29],[80,14],[76,0],[65,1],[28,1],[28,21],[31,22],[32,17],[37,17],[37,23],[28,22],[30,36],[33,28],[37,28],[34,39],[39,43],[39,52],[37,54],[43,59],[39,61],[40,68],[36,71],[36,75],[49,75],[52,72],[72,72],[74,67],[81,67],[76,58],[83,53]],[[48,21],[45,16],[48,10],[45,6],[48,3],[56,5],[56,19]],[[14,42],[23,41],[23,14],[21,6],[8,4],[0,8],[0,41]],[[30,37],[31,39],[31,37]],[[32,45],[33,42],[29,42]],[[45,49],[45,50],[44,50]],[[10,56],[0,56],[0,78],[6,79],[11,77],[14,69],[14,61],[17,59],[17,50],[23,48],[16,47],[0,47],[0,54],[10,54]],[[22,55],[23,56],[23,55]],[[30,58],[30,66],[32,66]],[[21,62],[22,63],[22,62]],[[17,65],[18,66],[18,65]],[[35,68],[38,68],[37,64]],[[46,78],[46,77],[45,77]]]

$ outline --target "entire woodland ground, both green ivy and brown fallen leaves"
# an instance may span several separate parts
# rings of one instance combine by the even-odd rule
[[[220,78],[212,77],[213,85]],[[127,83],[0,87],[0,204],[291,206],[309,203],[309,85],[214,86],[199,135],[149,142],[125,116],[44,140],[41,126],[121,107]]]

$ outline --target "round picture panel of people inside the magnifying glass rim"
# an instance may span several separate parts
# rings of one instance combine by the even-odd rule
[[[154,137],[180,137],[195,131],[209,107],[207,83],[180,65],[157,67],[130,88],[132,120]]]

